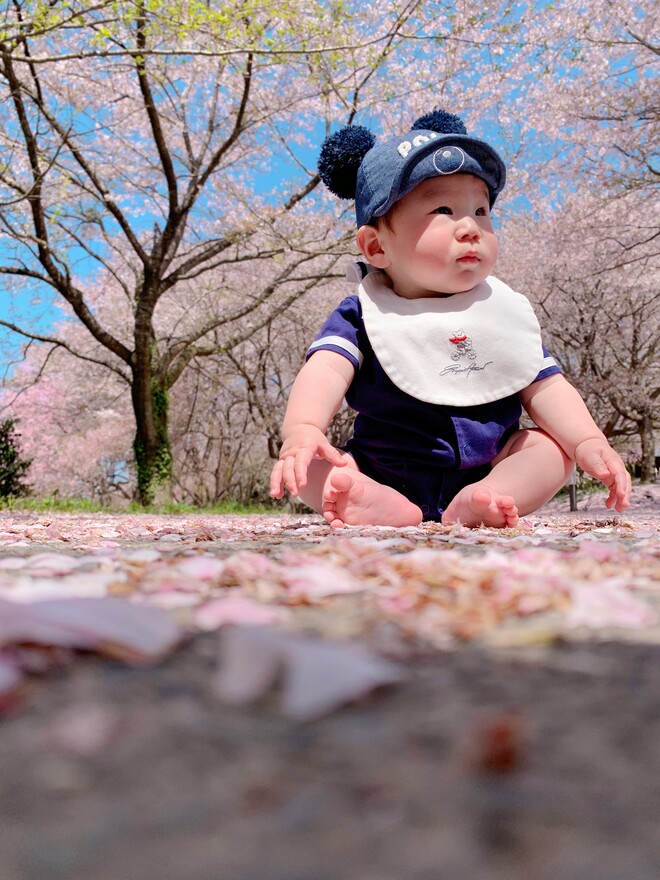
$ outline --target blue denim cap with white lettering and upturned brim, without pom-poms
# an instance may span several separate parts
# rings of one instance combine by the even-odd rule
[[[467,134],[415,129],[403,137],[375,144],[357,172],[358,227],[382,217],[422,181],[459,172],[473,174],[485,182],[492,207],[504,188],[506,166],[484,141]]]

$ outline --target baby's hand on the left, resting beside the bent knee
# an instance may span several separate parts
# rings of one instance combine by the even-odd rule
[[[346,454],[335,449],[323,431],[314,425],[297,425],[284,440],[271,472],[271,496],[281,498],[285,489],[297,496],[307,485],[307,469],[314,458],[324,458],[337,467],[346,464]]]

